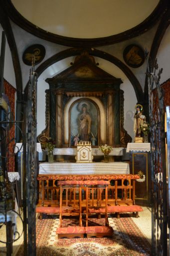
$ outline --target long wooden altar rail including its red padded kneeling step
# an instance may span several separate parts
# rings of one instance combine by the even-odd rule
[[[116,212],[120,216],[120,212],[136,212],[142,208],[135,205],[135,181],[139,175],[135,174],[39,174],[37,179],[39,181],[39,201],[36,211],[40,213],[59,213],[60,204],[60,186],[58,180],[108,180],[108,209],[107,212]],[[75,189],[74,189],[75,190]],[[86,186],[81,186],[81,208],[82,213],[85,213],[86,202]],[[97,198],[96,198],[97,199]],[[69,205],[79,204],[79,197],[69,187],[68,194],[65,200],[69,201]],[[105,196],[101,194],[101,205],[105,204]]]

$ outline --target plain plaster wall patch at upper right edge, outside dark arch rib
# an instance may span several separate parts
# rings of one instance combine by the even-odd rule
[[[160,83],[163,83],[170,78],[170,25],[166,30],[166,33],[160,44],[157,53],[159,68],[163,68],[163,73],[161,74]]]

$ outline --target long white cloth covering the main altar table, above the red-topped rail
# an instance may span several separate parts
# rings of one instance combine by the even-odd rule
[[[39,174],[129,174],[127,162],[43,162],[39,164]]]

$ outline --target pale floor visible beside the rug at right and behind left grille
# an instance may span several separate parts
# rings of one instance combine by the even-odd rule
[[[144,211],[139,212],[139,218],[133,217],[134,222],[138,225],[140,230],[143,232],[145,237],[151,243],[152,238],[152,226],[151,226],[151,208],[143,207]],[[22,232],[22,224],[21,221],[17,218],[17,230],[21,233]],[[0,228],[0,240],[5,239],[5,226],[3,225]],[[23,233],[21,237],[13,242],[13,253],[12,256],[16,254],[18,251],[19,245],[23,242]],[[0,256],[6,255],[5,243],[0,242]],[[47,255],[46,255],[47,256]]]

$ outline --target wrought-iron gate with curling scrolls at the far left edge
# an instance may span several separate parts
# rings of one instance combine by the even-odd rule
[[[13,157],[16,152],[11,152],[8,150],[10,143],[14,140],[14,137],[10,138],[8,136],[9,130],[13,125],[17,126],[16,121],[13,119],[13,114],[10,112],[10,104],[8,98],[4,93],[0,93],[0,228],[5,225],[4,230],[6,230],[6,237],[0,237],[0,242],[6,244],[6,255],[10,256],[12,254],[12,244],[22,234],[22,230],[19,232],[16,227],[16,219],[22,222],[23,220],[20,215],[20,210],[18,212],[15,210],[15,197],[18,199],[17,186],[15,187],[15,175],[13,175],[12,180],[8,178],[7,160]],[[18,150],[19,151],[19,150]],[[18,153],[17,151],[17,153]],[[14,172],[14,174],[17,174]],[[12,175],[11,175],[12,176]],[[16,175],[17,178],[19,175]],[[15,188],[15,189],[14,189]]]

